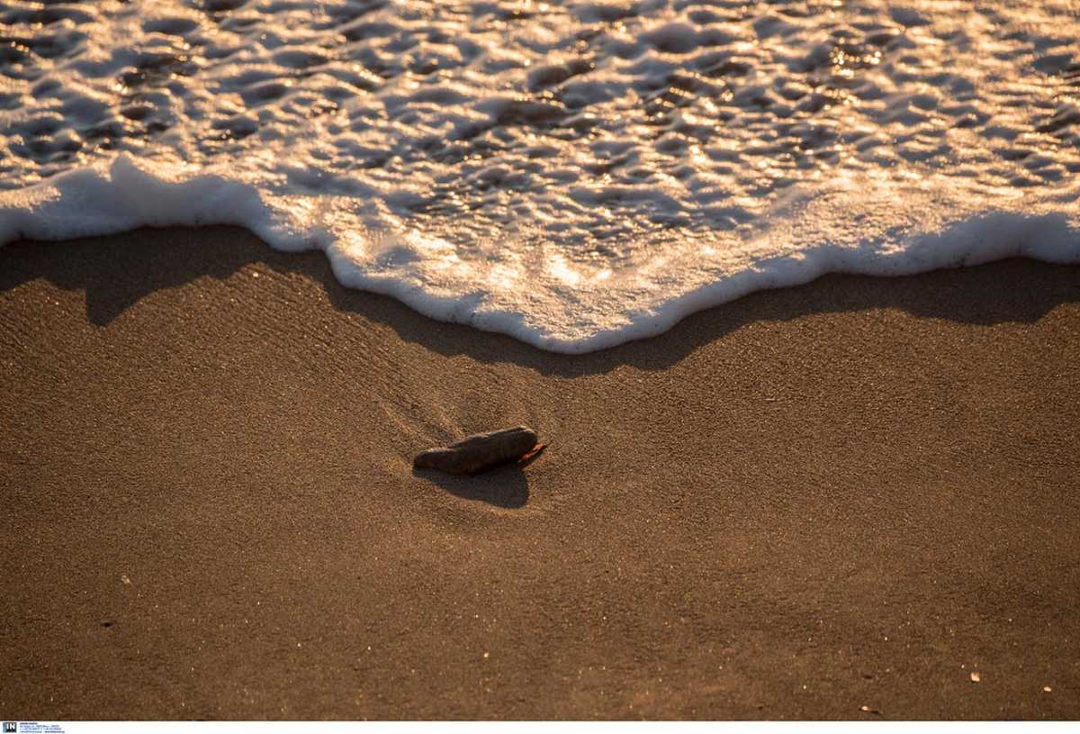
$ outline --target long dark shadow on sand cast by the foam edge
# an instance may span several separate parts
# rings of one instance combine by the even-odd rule
[[[805,285],[758,291],[693,313],[670,331],[637,343],[580,356],[561,356],[502,334],[436,323],[389,297],[342,286],[322,252],[272,250],[240,227],[172,227],[66,242],[17,242],[0,246],[0,294],[46,278],[82,291],[86,318],[108,324],[144,296],[202,277],[227,279],[245,266],[319,282],[340,311],[393,329],[399,336],[443,356],[480,362],[513,362],[541,374],[575,377],[630,364],[662,370],[700,346],[757,321],[788,321],[811,313],[897,308],[909,313],[972,324],[1034,322],[1055,306],[1080,302],[1080,266],[1012,259],[919,276],[880,278],[831,275]]]

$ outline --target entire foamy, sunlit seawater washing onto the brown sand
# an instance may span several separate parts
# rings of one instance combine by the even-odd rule
[[[1074,0],[9,2],[0,243],[240,224],[558,351],[1076,263],[1077,39]]]

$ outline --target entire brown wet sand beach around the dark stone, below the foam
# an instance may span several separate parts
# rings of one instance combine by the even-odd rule
[[[1080,716],[1080,268],[571,358],[144,230],[0,249],[0,323],[5,718]]]

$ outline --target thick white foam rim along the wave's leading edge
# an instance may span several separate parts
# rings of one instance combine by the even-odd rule
[[[546,351],[580,355],[662,334],[691,313],[755,291],[791,288],[826,273],[907,276],[1009,257],[1080,264],[1080,230],[1064,213],[986,212],[939,232],[916,233],[882,254],[874,242],[856,248],[816,246],[757,262],[746,269],[630,313],[630,323],[581,339],[552,336],[523,313],[477,312],[482,296],[434,295],[411,283],[365,273],[324,229],[289,219],[253,185],[216,173],[140,168],[127,154],[106,166],[58,174],[23,189],[0,192],[0,246],[17,240],[58,241],[102,237],[141,227],[241,226],[287,252],[323,250],[347,288],[391,296],[432,319],[507,334]]]

